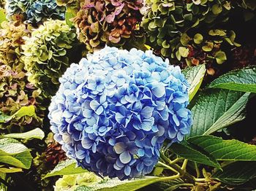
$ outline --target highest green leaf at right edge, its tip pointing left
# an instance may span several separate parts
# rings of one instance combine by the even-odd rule
[[[208,87],[256,93],[256,67],[230,71],[215,79]]]

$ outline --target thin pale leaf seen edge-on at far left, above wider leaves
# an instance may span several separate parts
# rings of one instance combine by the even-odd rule
[[[7,135],[3,135],[2,137],[6,138],[14,138],[14,139],[43,139],[45,137],[45,133],[40,128],[35,128],[26,133],[10,133]]]

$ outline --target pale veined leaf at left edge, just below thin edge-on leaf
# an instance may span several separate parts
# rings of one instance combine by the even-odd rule
[[[30,151],[25,145],[19,141],[10,138],[0,139],[0,156],[2,155],[18,155],[22,152]]]

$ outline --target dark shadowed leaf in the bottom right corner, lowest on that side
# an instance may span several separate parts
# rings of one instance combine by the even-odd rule
[[[212,178],[231,185],[239,185],[256,177],[256,162],[238,161],[217,171]]]

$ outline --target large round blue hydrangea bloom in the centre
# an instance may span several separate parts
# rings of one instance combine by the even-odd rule
[[[165,139],[189,133],[189,84],[151,51],[105,47],[72,63],[49,110],[54,139],[78,165],[102,176],[149,174]]]

